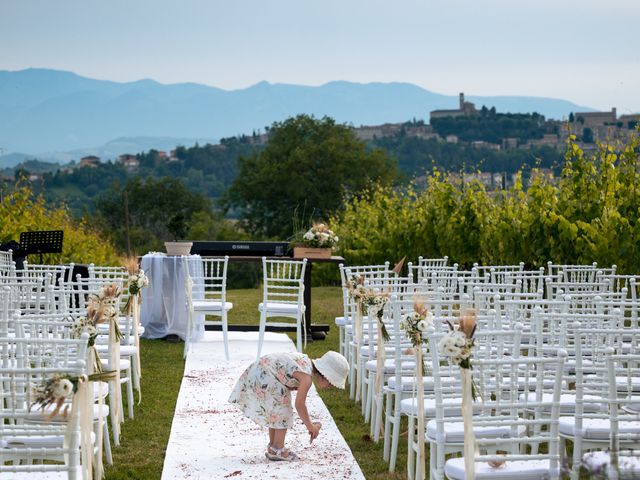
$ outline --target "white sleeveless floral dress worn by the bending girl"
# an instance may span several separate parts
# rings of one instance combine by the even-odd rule
[[[258,425],[293,427],[291,390],[298,388],[295,372],[312,374],[312,364],[302,353],[271,353],[255,361],[240,376],[229,402],[240,407]]]

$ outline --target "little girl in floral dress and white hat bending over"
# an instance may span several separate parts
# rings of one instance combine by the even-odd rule
[[[271,353],[260,357],[240,376],[229,402],[241,408],[258,425],[269,428],[269,460],[295,460],[297,455],[284,448],[287,430],[293,427],[291,391],[297,390],[295,407],[309,430],[311,441],[319,434],[320,422],[312,422],[307,411],[311,381],[316,387],[344,388],[349,373],[347,360],[329,351],[311,360],[302,353]]]

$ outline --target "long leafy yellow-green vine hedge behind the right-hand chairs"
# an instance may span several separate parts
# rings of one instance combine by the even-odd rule
[[[520,177],[502,192],[460,184],[434,171],[426,187],[376,186],[330,221],[348,263],[440,257],[469,267],[556,263],[618,265],[640,272],[638,136],[585,154],[571,136],[556,184]]]

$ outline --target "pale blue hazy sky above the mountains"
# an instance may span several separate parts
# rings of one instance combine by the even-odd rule
[[[0,70],[409,82],[640,112],[637,0],[0,0]]]

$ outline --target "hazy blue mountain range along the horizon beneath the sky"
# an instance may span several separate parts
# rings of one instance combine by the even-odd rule
[[[478,107],[495,106],[504,112],[537,111],[547,118],[591,110],[550,98],[467,98]],[[329,115],[338,122],[359,126],[412,118],[427,120],[429,111],[457,105],[457,96],[440,95],[408,83],[336,81],[307,87],[261,82],[226,91],[194,83],[117,83],[46,69],[0,71],[0,148],[38,158],[49,154],[57,159],[52,155],[55,152],[88,153],[113,139],[216,141],[263,130],[274,121],[298,113]],[[134,151],[130,153],[140,150],[136,145],[133,142],[127,146]],[[122,148],[120,145],[110,151],[116,155],[123,153]],[[146,148],[150,147],[143,146],[142,150]],[[164,148],[170,147],[165,144]]]

